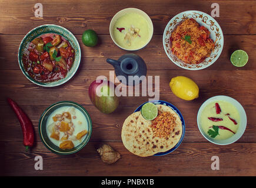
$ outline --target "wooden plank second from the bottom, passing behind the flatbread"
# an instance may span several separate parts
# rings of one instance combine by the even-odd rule
[[[35,128],[35,140],[40,141],[38,135],[39,118],[48,106],[25,105],[21,108],[32,120]],[[134,112],[137,106],[122,106],[110,115],[99,112],[94,106],[84,106],[92,119],[92,136],[91,142],[121,142],[121,130],[124,120]],[[185,119],[185,137],[183,142],[208,142],[201,135],[197,126],[198,105],[179,105],[182,115]],[[196,109],[196,110],[195,110]],[[256,116],[254,106],[245,106],[247,112],[247,128],[244,135],[238,142],[256,142]],[[22,131],[18,119],[9,106],[1,106],[1,131],[0,141],[22,141]]]

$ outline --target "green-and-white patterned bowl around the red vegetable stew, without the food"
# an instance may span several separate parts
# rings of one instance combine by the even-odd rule
[[[24,65],[22,63],[22,56],[25,50],[27,49],[29,43],[34,38],[45,33],[56,33],[58,35],[63,36],[65,39],[67,39],[67,41],[70,43],[72,48],[75,49],[75,61],[74,61],[74,64],[72,65],[72,68],[68,71],[67,76],[64,79],[60,79],[55,82],[48,82],[48,83],[38,82],[33,78],[31,78],[31,76],[29,76],[29,74],[25,71]],[[26,78],[28,78],[31,82],[39,86],[53,87],[53,86],[59,86],[62,83],[67,82],[69,79],[72,78],[72,76],[75,75],[75,72],[77,72],[80,60],[81,60],[81,49],[77,39],[70,31],[68,31],[68,29],[65,29],[59,25],[46,24],[46,25],[38,26],[32,29],[31,31],[29,31],[26,34],[26,36],[22,39],[21,44],[19,45],[19,52],[18,52],[19,67],[21,68],[22,73],[26,76]]]

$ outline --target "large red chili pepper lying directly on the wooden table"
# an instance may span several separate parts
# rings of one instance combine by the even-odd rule
[[[18,117],[19,123],[21,123],[21,128],[23,132],[23,143],[26,147],[26,150],[28,150],[29,147],[32,147],[34,144],[34,126],[31,120],[25,114],[25,112],[21,108],[19,108],[14,100],[7,98],[7,102],[14,110],[16,116]]]

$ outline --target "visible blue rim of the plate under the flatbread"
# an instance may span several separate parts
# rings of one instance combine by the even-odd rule
[[[168,103],[168,102],[165,102],[164,100],[154,100],[154,101],[150,101],[152,103],[154,103],[155,105],[165,105],[165,106],[168,106],[169,108],[171,108],[172,110],[174,110],[174,112],[176,112],[179,116],[179,118],[181,119],[181,123],[182,123],[182,135],[181,135],[181,138],[179,139],[179,142],[174,146],[172,147],[171,149],[169,149],[168,151],[166,152],[159,152],[159,153],[156,153],[154,156],[163,156],[163,155],[167,155],[171,152],[173,152],[175,149],[177,149],[177,147],[179,147],[179,145],[181,144],[182,140],[184,139],[184,135],[185,135],[185,120],[181,114],[181,112],[179,112],[179,110],[174,106],[172,105],[171,103]],[[145,103],[148,103],[148,102],[145,102]],[[142,106],[145,105],[145,103],[143,103],[142,105],[140,105],[134,112],[138,112],[141,110]]]

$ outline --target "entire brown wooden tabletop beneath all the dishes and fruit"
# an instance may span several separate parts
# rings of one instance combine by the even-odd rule
[[[0,170],[5,176],[255,176],[256,175],[256,1],[39,1],[43,19],[36,19],[33,8],[37,1],[0,1]],[[162,33],[169,20],[179,12],[198,10],[211,14],[211,4],[220,5],[220,17],[215,18],[224,33],[224,49],[220,58],[204,70],[185,70],[172,63],[162,46]],[[148,75],[160,76],[160,99],[181,110],[186,122],[181,145],[169,155],[139,157],[122,144],[121,128],[125,118],[147,97],[123,97],[114,113],[105,115],[92,105],[88,96],[90,83],[99,75],[114,70],[107,58],[117,59],[128,53],[119,49],[109,36],[112,16],[121,9],[135,7],[147,12],[154,24],[154,36],[142,51],[135,52],[147,63]],[[81,46],[82,58],[78,72],[64,85],[42,88],[30,82],[19,69],[19,43],[31,29],[39,25],[56,24],[74,33]],[[84,46],[81,40],[86,29],[94,29],[99,44]],[[243,49],[249,55],[247,65],[233,66],[230,55]],[[172,77],[184,75],[195,80],[200,97],[192,101],[177,98],[169,89]],[[237,142],[214,145],[201,135],[197,127],[197,112],[202,103],[215,95],[237,99],[247,113],[247,128]],[[31,118],[35,127],[35,146],[25,152],[22,132],[6,97],[14,99]],[[51,153],[38,135],[38,120],[42,112],[59,100],[72,100],[88,110],[92,118],[92,136],[87,146],[74,155]],[[108,143],[121,153],[122,159],[108,165],[102,163],[96,151]],[[43,170],[35,170],[35,156],[42,156]],[[212,170],[212,156],[220,159],[220,170]]]

